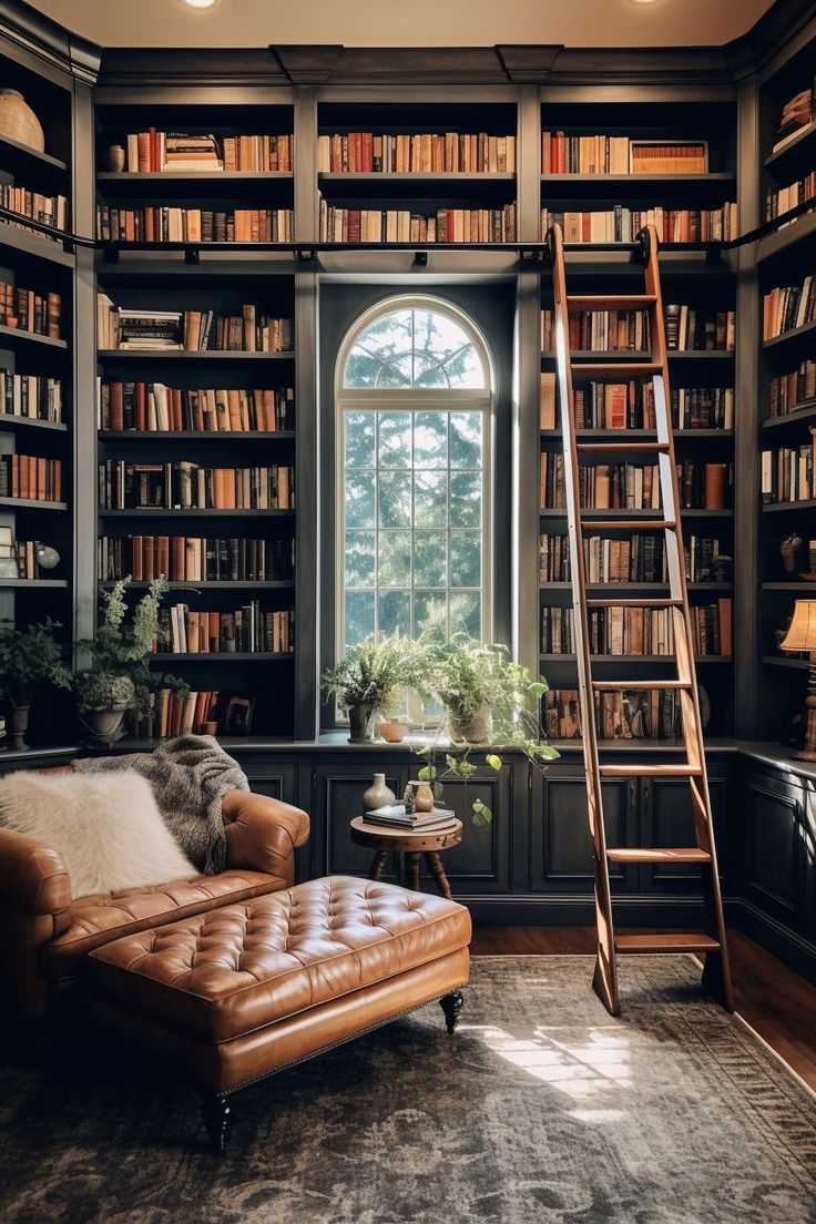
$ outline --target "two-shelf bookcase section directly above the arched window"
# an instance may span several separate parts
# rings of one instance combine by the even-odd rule
[[[514,240],[516,110],[515,102],[502,100],[318,103],[321,237],[358,241],[361,225],[363,235],[388,233],[380,214],[390,214],[391,241],[425,241],[428,222],[436,235],[429,241]],[[380,164],[382,171],[374,169]],[[480,213],[472,222],[478,229],[471,229],[470,217]]]

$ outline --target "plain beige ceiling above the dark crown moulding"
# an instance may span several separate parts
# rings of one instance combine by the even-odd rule
[[[744,34],[772,0],[33,0],[102,47],[719,45]]]

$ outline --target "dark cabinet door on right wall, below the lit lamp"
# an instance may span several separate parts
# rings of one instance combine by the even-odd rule
[[[809,934],[812,923],[807,913],[814,871],[811,819],[799,786],[770,774],[749,776],[743,813],[743,895],[803,935]]]

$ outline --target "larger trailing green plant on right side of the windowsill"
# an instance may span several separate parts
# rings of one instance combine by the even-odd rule
[[[548,684],[514,662],[506,646],[456,638],[423,649],[426,684],[444,706],[445,717],[434,738],[416,754],[426,763],[418,777],[433,783],[438,799],[445,778],[460,778],[467,787],[478,769],[469,759],[475,748],[499,749],[484,756],[484,764],[495,774],[504,766],[502,750],[524,753],[540,770],[558,759],[557,749],[540,733],[540,703]],[[493,820],[493,812],[482,799],[475,799],[471,810],[475,825]]]

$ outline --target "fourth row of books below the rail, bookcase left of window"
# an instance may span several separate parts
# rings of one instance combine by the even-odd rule
[[[295,541],[230,536],[102,536],[97,546],[100,581],[131,577],[135,583],[287,581],[295,572]]]

